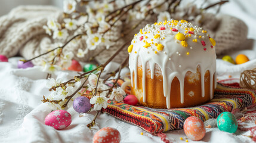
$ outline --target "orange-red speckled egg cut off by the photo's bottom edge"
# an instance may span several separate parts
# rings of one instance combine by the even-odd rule
[[[98,130],[93,137],[93,143],[113,142],[119,143],[121,135],[117,129],[106,127]]]

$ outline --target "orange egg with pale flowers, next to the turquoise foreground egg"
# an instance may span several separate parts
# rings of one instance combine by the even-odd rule
[[[205,125],[198,117],[188,117],[183,128],[187,137],[193,141],[200,141],[205,136]]]

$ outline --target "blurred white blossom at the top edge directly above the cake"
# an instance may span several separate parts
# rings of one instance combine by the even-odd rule
[[[153,0],[150,1],[150,5],[153,8],[153,12],[156,14],[161,13],[162,11],[168,10],[168,3],[165,0]]]

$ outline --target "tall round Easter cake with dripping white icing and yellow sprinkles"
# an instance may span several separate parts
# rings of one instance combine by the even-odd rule
[[[213,98],[215,41],[202,27],[186,20],[147,24],[128,52],[131,93],[140,105],[193,107]]]

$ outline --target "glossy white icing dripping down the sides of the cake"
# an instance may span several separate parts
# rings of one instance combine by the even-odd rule
[[[216,54],[215,48],[212,46],[211,41],[209,41],[206,33],[202,32],[202,28],[198,26],[193,26],[191,23],[178,21],[177,26],[171,23],[172,20],[167,21],[166,24],[147,24],[137,35],[134,36],[134,39],[131,42],[133,45],[132,51],[129,52],[129,69],[131,70],[131,83],[132,87],[137,89],[137,65],[138,58],[140,58],[141,67],[143,70],[143,89],[145,87],[146,81],[146,67],[147,63],[150,66],[151,75],[153,79],[155,64],[158,64],[162,71],[163,77],[163,87],[164,87],[164,96],[166,97],[167,108],[170,108],[170,93],[171,93],[171,82],[174,77],[177,77],[180,82],[180,97],[181,103],[184,102],[184,77],[187,71],[196,73],[196,67],[200,66],[201,68],[201,89],[202,97],[205,96],[205,85],[204,85],[204,75],[207,70],[209,70],[209,79],[210,79],[210,97],[212,99],[212,82],[214,80],[214,88],[216,87],[216,80],[213,79],[216,77]],[[174,22],[175,23],[175,22]],[[171,24],[171,25],[170,25]],[[160,27],[165,27],[165,30],[161,30]],[[184,41],[187,42],[187,46],[181,45],[181,41],[175,38],[175,35],[178,32],[172,31],[170,28],[175,28],[178,32],[183,33],[185,36],[189,33],[187,32],[190,27],[193,27],[194,34],[187,36]],[[147,32],[147,33],[145,33]],[[150,33],[148,33],[150,32]],[[160,35],[159,38],[154,38],[155,35]],[[140,37],[143,36],[143,39],[140,41]],[[146,38],[147,36],[147,38]],[[201,36],[201,38],[199,38]],[[152,41],[153,39],[153,41]],[[193,42],[193,39],[197,39],[198,42]],[[143,42],[144,41],[144,42]],[[203,46],[202,42],[205,42]],[[145,48],[146,42],[152,43],[150,46]],[[159,51],[155,43],[161,43],[164,45],[164,49]],[[212,46],[212,47],[211,47]],[[193,47],[193,48],[192,48]],[[204,49],[206,48],[206,50]],[[155,51],[157,53],[155,53]],[[132,74],[134,73],[134,78]],[[215,75],[215,76],[214,76]],[[133,85],[134,82],[134,85]],[[146,92],[143,92],[143,102],[146,102]]]

